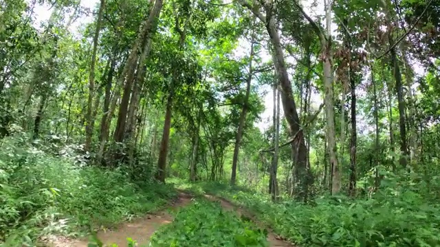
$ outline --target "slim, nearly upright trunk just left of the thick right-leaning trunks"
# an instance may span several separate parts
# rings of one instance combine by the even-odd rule
[[[105,0],[101,0],[100,8],[98,12],[98,19],[96,20],[96,30],[95,30],[95,36],[94,36],[94,48],[91,54],[91,64],[90,64],[90,74],[89,74],[89,97],[87,98],[87,116],[86,121],[87,124],[85,126],[85,145],[84,150],[88,152],[90,150],[91,145],[91,136],[93,134],[94,126],[92,126],[93,121],[93,115],[92,110],[94,108],[93,106],[93,99],[94,99],[94,88],[95,88],[95,63],[96,63],[96,51],[98,50],[98,38],[99,38],[99,32],[101,30],[101,19],[102,19],[102,12],[104,12],[104,2]]]

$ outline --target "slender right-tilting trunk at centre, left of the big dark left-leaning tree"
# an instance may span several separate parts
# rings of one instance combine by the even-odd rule
[[[245,126],[246,114],[248,113],[250,84],[252,82],[252,73],[253,73],[253,70],[252,70],[252,60],[253,59],[254,59],[254,37],[252,34],[252,41],[250,44],[249,74],[248,74],[248,80],[246,81],[246,94],[245,94],[245,98],[243,100],[243,106],[241,108],[241,114],[240,114],[240,119],[239,119],[239,128],[236,132],[235,145],[234,145],[234,155],[232,157],[232,173],[231,173],[231,182],[230,182],[231,185],[235,185],[236,164],[239,159],[241,137],[243,137],[243,129]]]

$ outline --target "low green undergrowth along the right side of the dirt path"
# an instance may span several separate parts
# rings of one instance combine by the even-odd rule
[[[267,195],[221,183],[173,180],[179,188],[212,193],[247,208],[298,246],[440,246],[438,192],[421,181],[417,174],[387,174],[372,198],[322,196],[303,204],[290,199],[273,203]]]

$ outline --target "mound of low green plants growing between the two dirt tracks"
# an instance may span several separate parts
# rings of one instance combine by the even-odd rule
[[[267,231],[236,213],[224,211],[219,202],[197,200],[175,215],[175,220],[151,237],[154,247],[267,246]]]

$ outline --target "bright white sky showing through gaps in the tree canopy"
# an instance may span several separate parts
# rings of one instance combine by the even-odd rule
[[[31,0],[28,0],[31,1]],[[323,1],[317,0],[318,4],[314,7],[312,7],[313,0],[305,0],[302,1],[304,10],[309,16],[313,18],[313,16],[316,16],[317,14],[322,15],[324,14],[324,4]],[[93,9],[95,5],[98,3],[98,0],[80,0],[80,5],[83,8],[90,8]],[[50,6],[49,5],[36,5],[34,8],[34,19],[35,19],[35,26],[39,27],[39,23],[41,21],[47,21],[49,19],[51,14]],[[72,25],[70,26],[70,31],[74,34],[78,33],[78,28],[85,24],[93,21],[94,16],[89,14],[89,16],[82,16],[78,18]],[[335,32],[336,25],[333,25],[332,32]],[[245,56],[248,54],[250,43],[248,43],[245,40],[241,40],[239,47],[236,49],[236,56]],[[271,56],[269,54],[262,54],[263,62],[267,62],[269,60],[272,60]],[[295,64],[295,60],[291,57],[287,58],[287,62]],[[413,64],[413,68],[415,69],[415,73],[417,75],[423,75],[423,67],[421,67],[419,64]],[[290,69],[289,74],[292,75],[294,73],[293,69]],[[293,82],[292,82],[293,83]],[[261,88],[261,93],[266,92],[266,94],[263,96],[263,102],[265,105],[265,110],[261,114],[261,121],[256,122],[256,126],[260,130],[265,130],[265,128],[268,128],[271,125],[271,119],[273,115],[273,93],[272,89],[270,89],[270,86],[263,86]],[[358,92],[357,92],[358,93]],[[311,104],[312,107],[317,107],[322,103],[322,97],[319,94],[312,93],[311,95]],[[297,102],[297,105],[299,102]],[[281,115],[283,116],[283,107],[281,107]],[[358,124],[360,127],[368,128],[369,126],[366,126],[366,122],[364,121],[364,116],[360,116],[360,119],[358,119]],[[372,129],[372,126],[371,126]]]

